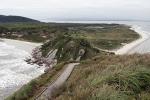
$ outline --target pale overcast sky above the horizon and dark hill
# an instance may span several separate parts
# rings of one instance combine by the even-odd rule
[[[1,15],[39,20],[150,20],[150,0],[0,0]]]

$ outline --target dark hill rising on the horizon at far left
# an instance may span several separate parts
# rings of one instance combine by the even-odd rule
[[[8,22],[14,23],[14,22],[39,22],[39,21],[27,17],[22,17],[22,16],[0,15],[0,23],[8,23]]]

